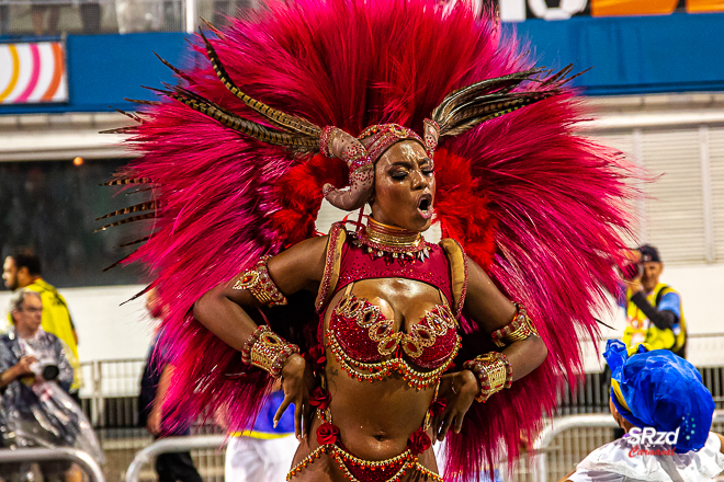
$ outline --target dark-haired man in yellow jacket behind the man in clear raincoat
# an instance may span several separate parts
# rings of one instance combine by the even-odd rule
[[[56,335],[66,344],[66,356],[73,368],[75,379],[70,397],[80,404],[78,394],[81,387],[80,363],[78,362],[78,334],[72,324],[65,298],[53,285],[41,276],[41,260],[27,248],[20,248],[5,257],[2,279],[11,290],[26,288],[36,291],[43,299],[43,330]]]

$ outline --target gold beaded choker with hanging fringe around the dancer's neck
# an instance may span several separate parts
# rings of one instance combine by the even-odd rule
[[[366,248],[373,261],[384,257],[387,264],[421,263],[430,257],[430,248],[422,234],[383,225],[372,218],[367,218],[366,228],[355,233],[352,243],[358,248]]]

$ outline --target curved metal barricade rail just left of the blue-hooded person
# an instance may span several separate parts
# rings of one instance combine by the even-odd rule
[[[724,410],[714,412],[712,424],[724,422]],[[554,418],[548,425],[543,428],[538,438],[533,443],[533,481],[547,482],[548,480],[548,446],[556,435],[572,428],[590,428],[590,427],[610,427],[615,428],[619,425],[613,421],[611,414],[590,414],[590,415],[570,415]],[[570,468],[573,469],[573,467]]]

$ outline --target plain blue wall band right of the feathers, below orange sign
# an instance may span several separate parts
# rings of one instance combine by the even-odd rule
[[[588,95],[724,90],[724,15],[675,14],[505,24],[531,43],[541,66],[592,69]]]

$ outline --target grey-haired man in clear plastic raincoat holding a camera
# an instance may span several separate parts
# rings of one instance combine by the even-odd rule
[[[0,337],[3,445],[72,446],[78,433],[73,420],[63,406],[48,400],[53,388],[45,387],[46,381],[54,380],[67,391],[73,380],[72,368],[58,337],[41,328],[41,295],[19,289],[10,308],[13,326]],[[70,467],[70,462],[41,463],[43,480],[65,481]],[[3,466],[3,474],[9,474],[10,481],[24,480],[29,472],[27,464]]]

